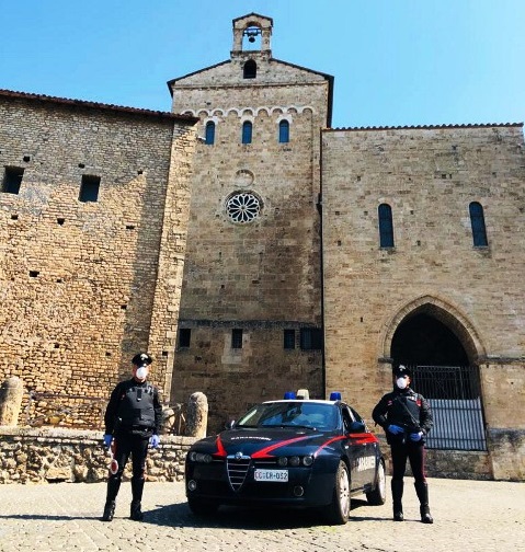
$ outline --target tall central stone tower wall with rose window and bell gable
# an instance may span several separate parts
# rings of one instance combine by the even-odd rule
[[[242,28],[261,27],[263,50],[242,50]],[[170,81],[174,113],[199,117],[215,142],[195,150],[193,194],[180,327],[189,346],[175,354],[172,395],[195,390],[209,400],[210,427],[249,405],[287,390],[308,388],[323,398],[322,352],[304,350],[301,329],[320,329],[321,261],[319,129],[329,119],[330,78],[272,58],[272,21],[250,15],[235,22],[228,61]],[[256,77],[243,66],[256,64]],[[289,141],[279,142],[279,122]],[[253,125],[251,143],[242,125]],[[260,202],[251,222],[228,217],[226,203],[247,193]],[[231,345],[242,330],[242,347]],[[283,345],[295,332],[295,348]]]

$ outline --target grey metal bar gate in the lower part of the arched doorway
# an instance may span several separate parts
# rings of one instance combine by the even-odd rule
[[[432,409],[426,446],[441,450],[487,450],[477,366],[411,366],[411,387]]]

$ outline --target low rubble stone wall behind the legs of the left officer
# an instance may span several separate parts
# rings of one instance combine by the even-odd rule
[[[194,437],[161,436],[147,459],[148,481],[181,481]],[[110,456],[102,433],[0,426],[0,483],[94,483],[107,479]],[[124,479],[130,479],[130,462]]]

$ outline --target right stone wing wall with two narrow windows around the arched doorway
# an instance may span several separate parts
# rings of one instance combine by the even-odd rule
[[[523,479],[525,165],[522,125],[336,129],[322,136],[327,388],[364,416],[391,388],[391,344],[418,312],[441,320],[480,369],[497,479]],[[469,204],[488,246],[472,244]],[[378,206],[395,246],[379,246]],[[509,460],[512,458],[512,461]]]

